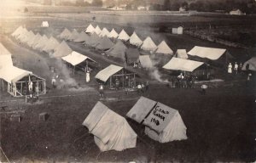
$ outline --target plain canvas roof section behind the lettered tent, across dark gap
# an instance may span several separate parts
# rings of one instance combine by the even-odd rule
[[[126,116],[138,123],[142,123],[148,113],[154,108],[155,104],[157,104],[156,101],[142,96],[137,100],[137,103],[134,104]]]

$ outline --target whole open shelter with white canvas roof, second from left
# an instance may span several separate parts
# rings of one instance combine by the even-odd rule
[[[87,70],[90,63],[96,63],[95,60],[90,59],[90,57],[87,57],[83,55],[82,53],[78,53],[73,51],[72,53],[69,53],[67,56],[61,57],[62,60],[64,60],[69,65],[73,65],[73,73],[75,68],[79,68],[79,70]]]

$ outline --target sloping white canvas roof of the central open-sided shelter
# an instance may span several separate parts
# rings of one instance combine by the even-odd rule
[[[113,74],[117,73],[119,70],[122,69],[123,67],[120,67],[118,65],[109,65],[105,69],[99,71],[95,77],[96,79],[99,79],[102,82],[107,82],[110,76],[113,76]]]

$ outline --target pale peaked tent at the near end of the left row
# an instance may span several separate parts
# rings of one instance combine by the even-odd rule
[[[61,44],[57,48],[55,48],[55,52],[52,53],[50,57],[61,58],[72,52],[73,50],[67,45],[67,42],[62,41]]]

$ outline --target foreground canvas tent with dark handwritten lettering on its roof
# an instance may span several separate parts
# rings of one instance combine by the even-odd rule
[[[146,126],[145,133],[148,137],[160,143],[188,138],[186,135],[187,127],[181,115],[177,110],[165,104],[157,103],[143,121],[143,125]]]

